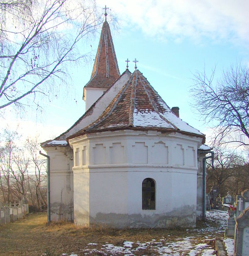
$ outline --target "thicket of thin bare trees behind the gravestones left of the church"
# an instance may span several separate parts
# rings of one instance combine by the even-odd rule
[[[0,201],[25,198],[34,210],[45,209],[46,160],[39,155],[38,137],[19,146],[17,132],[5,130],[0,138]]]

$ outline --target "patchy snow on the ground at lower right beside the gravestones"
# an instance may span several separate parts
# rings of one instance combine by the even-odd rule
[[[82,248],[80,254],[84,255],[164,255],[164,256],[210,256],[216,255],[215,250],[209,245],[216,234],[224,232],[228,214],[227,211],[207,211],[207,221],[212,221],[217,224],[218,227],[207,225],[203,229],[192,229],[197,231],[192,236],[181,237],[171,240],[171,237],[162,237],[159,241],[152,239],[147,242],[132,242],[125,241],[122,246],[115,246],[113,244],[96,244],[89,243],[88,246]],[[189,229],[186,231],[190,232]],[[198,242],[197,242],[198,239]],[[225,246],[228,256],[232,256],[233,251],[233,239],[225,239]],[[65,254],[68,256],[77,256],[75,253]]]

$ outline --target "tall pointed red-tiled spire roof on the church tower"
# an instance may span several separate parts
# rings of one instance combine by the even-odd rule
[[[108,89],[119,76],[120,71],[117,65],[110,27],[108,22],[105,21],[100,35],[91,79],[85,87]]]

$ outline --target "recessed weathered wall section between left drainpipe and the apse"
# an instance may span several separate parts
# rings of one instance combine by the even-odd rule
[[[50,157],[51,220],[73,220],[73,150],[44,148]]]

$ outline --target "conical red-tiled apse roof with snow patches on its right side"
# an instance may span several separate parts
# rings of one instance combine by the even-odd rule
[[[171,112],[139,70],[132,73],[127,83],[95,122],[68,139],[85,133],[117,129],[178,131],[205,138],[204,134]]]

